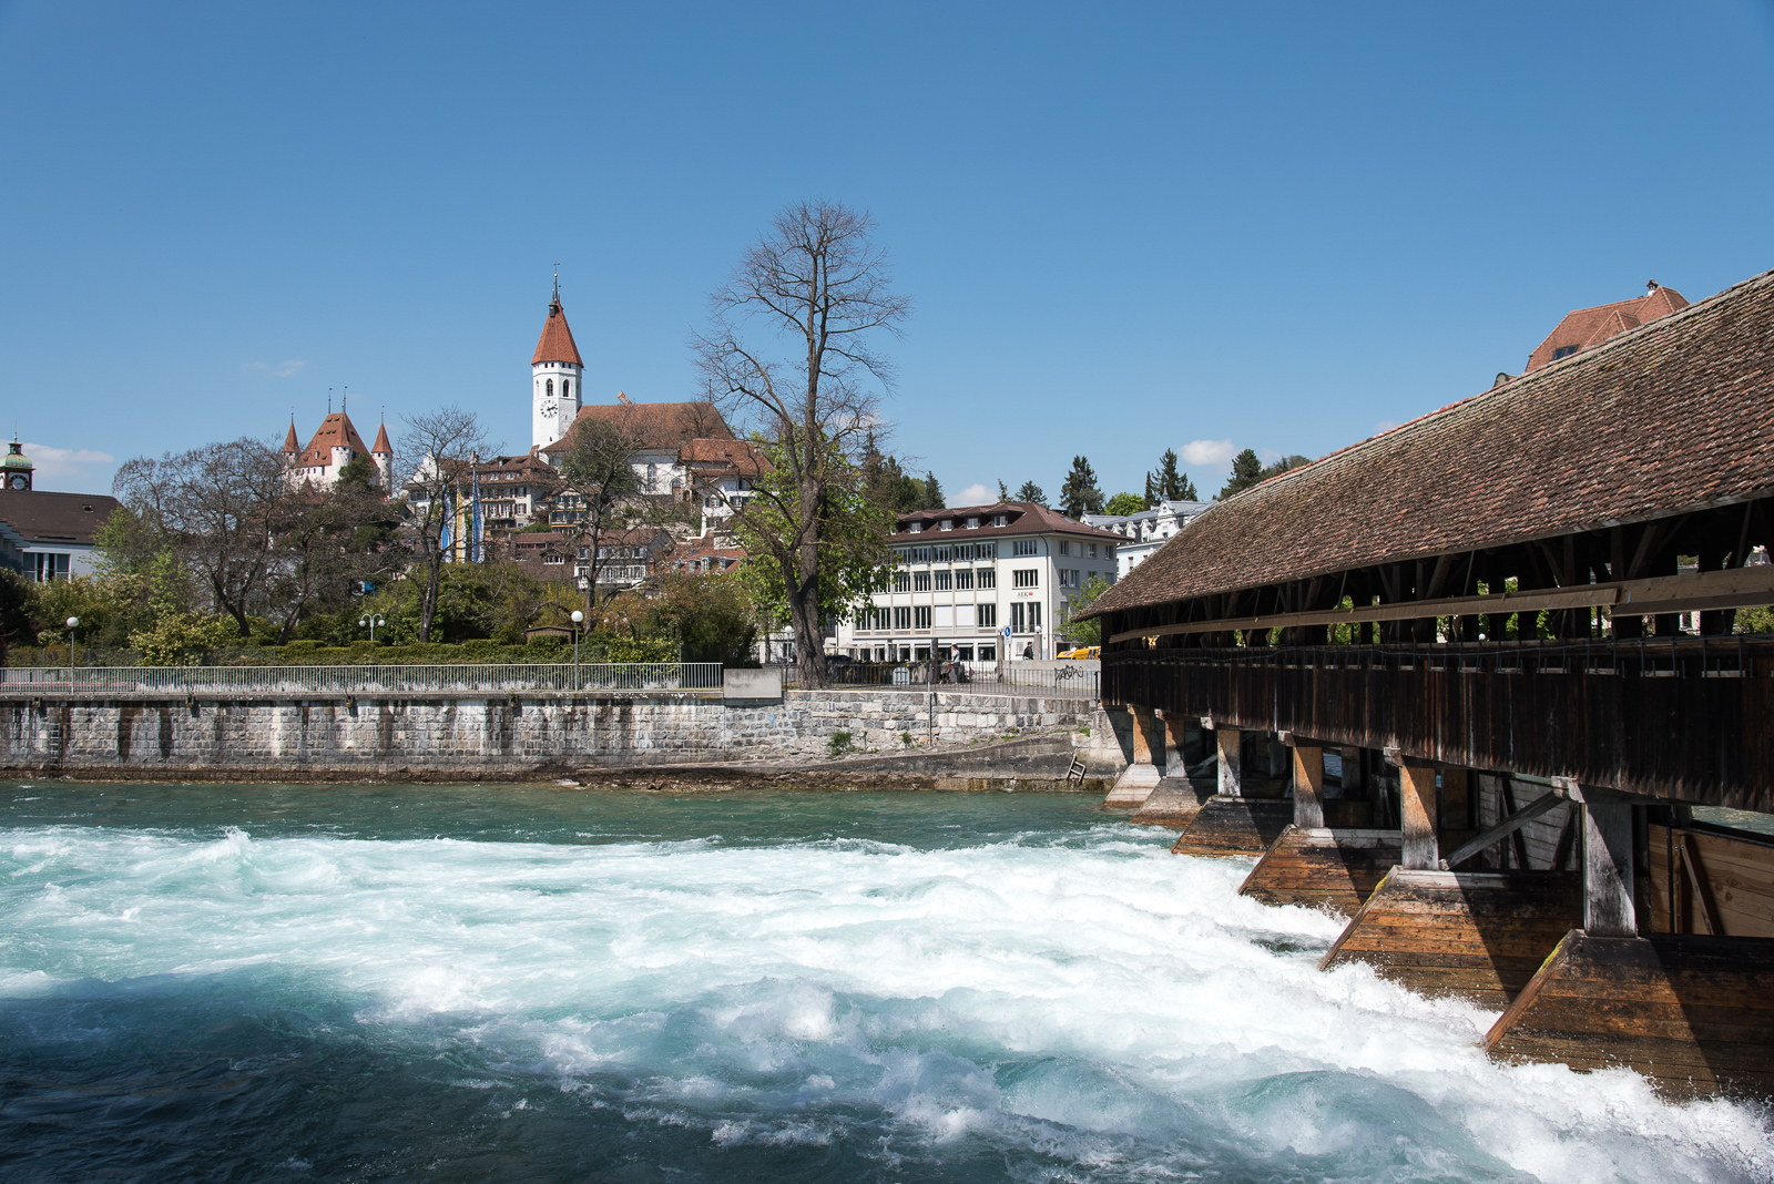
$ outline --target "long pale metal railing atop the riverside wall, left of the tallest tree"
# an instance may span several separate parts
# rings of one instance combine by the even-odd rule
[[[718,661],[488,663],[429,666],[7,666],[0,689],[43,693],[718,691]]]

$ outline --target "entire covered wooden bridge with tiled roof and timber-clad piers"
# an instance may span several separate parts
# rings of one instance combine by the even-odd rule
[[[1774,1095],[1769,548],[1774,273],[1190,523],[1093,610],[1111,801],[1497,1056]]]

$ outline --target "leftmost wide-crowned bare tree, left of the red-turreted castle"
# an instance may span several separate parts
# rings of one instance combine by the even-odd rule
[[[232,440],[117,470],[117,498],[209,592],[215,611],[250,633],[247,613],[273,574],[271,544],[291,489],[284,459],[257,440]]]

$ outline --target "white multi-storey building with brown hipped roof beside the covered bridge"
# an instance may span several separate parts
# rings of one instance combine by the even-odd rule
[[[1052,658],[1070,597],[1116,580],[1119,535],[1032,502],[901,514],[892,585],[853,620],[837,622],[827,652],[860,661]]]

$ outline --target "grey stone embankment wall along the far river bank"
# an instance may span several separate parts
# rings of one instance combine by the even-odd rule
[[[983,746],[1061,728],[1073,730],[1068,743],[1084,750],[1093,769],[1114,764],[1093,746],[1103,743],[1096,732],[1105,727],[1093,702],[942,691],[935,700],[931,720],[928,693],[889,688],[789,691],[781,702],[522,693],[351,702],[7,698],[0,702],[0,767],[220,780],[498,780],[697,762],[793,769],[825,762],[836,732],[850,732],[859,759],[871,750],[914,759],[931,741]]]

